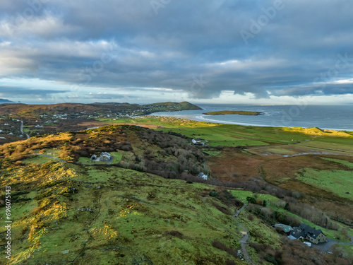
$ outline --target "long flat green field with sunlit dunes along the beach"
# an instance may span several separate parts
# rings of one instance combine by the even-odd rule
[[[210,146],[262,146],[273,143],[291,144],[301,141],[300,146],[322,148],[323,150],[352,151],[353,136],[345,132],[324,133],[319,129],[241,126],[198,122],[177,117],[145,116],[140,119],[100,119],[102,122],[151,124],[160,126],[157,130],[174,131],[191,138],[209,141]],[[311,140],[311,141],[304,141]]]

